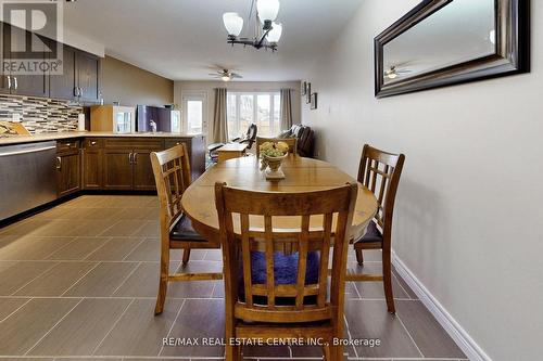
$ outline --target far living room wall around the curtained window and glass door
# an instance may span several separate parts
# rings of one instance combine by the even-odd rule
[[[227,88],[230,91],[279,91],[283,88],[292,89],[292,121],[301,121],[301,95],[300,81],[176,81],[175,82],[175,104],[181,106],[182,96],[192,93],[202,93],[206,98],[207,112],[204,133],[211,139],[211,127],[209,124],[213,119],[215,107],[215,95],[213,89]],[[308,105],[307,105],[308,106]]]

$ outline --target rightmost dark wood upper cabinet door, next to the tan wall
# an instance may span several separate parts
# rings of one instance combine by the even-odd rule
[[[97,102],[99,99],[100,59],[83,51],[76,56],[77,82],[83,101]]]

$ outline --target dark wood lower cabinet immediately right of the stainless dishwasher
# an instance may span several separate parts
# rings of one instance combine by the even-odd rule
[[[56,194],[63,197],[81,189],[79,141],[56,143]]]

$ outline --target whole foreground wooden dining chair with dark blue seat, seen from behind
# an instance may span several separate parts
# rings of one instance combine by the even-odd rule
[[[215,185],[227,340],[321,339],[328,343],[326,360],[343,359],[343,348],[330,341],[343,337],[349,227],[356,194],[356,184],[308,193]],[[287,232],[274,230],[276,217],[290,217],[299,225]],[[294,252],[285,254],[285,243]],[[226,360],[240,360],[241,353],[240,346],[227,343]]]

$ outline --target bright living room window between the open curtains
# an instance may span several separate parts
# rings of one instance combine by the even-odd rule
[[[228,92],[227,117],[230,138],[244,136],[249,126],[258,127],[258,136],[276,137],[281,132],[279,92]]]

